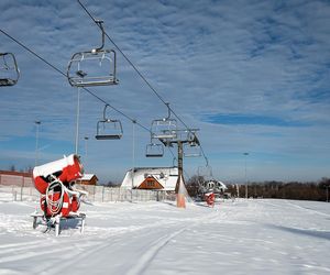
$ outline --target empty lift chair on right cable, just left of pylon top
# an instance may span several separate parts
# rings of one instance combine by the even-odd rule
[[[152,121],[152,139],[170,140],[177,138],[177,122],[170,118],[169,103],[166,103],[166,106],[168,109],[167,118]]]

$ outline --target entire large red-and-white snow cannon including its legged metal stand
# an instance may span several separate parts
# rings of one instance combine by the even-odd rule
[[[54,228],[55,234],[58,235],[61,223],[75,219],[80,223],[80,232],[84,232],[86,215],[79,213],[78,210],[81,197],[88,193],[74,188],[74,180],[81,178],[82,174],[79,157],[74,154],[34,167],[33,180],[35,188],[41,193],[42,212],[35,211],[31,215],[33,229],[45,224],[45,232]]]

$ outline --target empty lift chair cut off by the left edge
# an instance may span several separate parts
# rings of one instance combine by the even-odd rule
[[[20,78],[20,70],[12,53],[0,53],[0,87],[14,86]]]

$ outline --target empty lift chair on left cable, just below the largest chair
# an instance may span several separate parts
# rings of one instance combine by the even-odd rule
[[[122,124],[120,120],[108,119],[106,117],[107,107],[103,109],[103,119],[97,123],[97,140],[120,140],[122,138]]]

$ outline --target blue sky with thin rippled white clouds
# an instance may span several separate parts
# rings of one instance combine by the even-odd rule
[[[215,178],[330,177],[329,1],[81,2],[175,113],[199,129]],[[100,45],[77,1],[2,0],[0,11],[2,31],[64,73],[75,53]],[[106,40],[105,48],[114,45]],[[21,72],[15,86],[0,87],[0,169],[75,153],[77,88],[2,32],[0,52],[13,53]],[[133,166],[172,166],[176,154],[145,157],[144,128],[167,109],[118,51],[117,76],[117,86],[90,88],[98,98],[80,91],[78,154],[102,183],[121,182]],[[119,141],[95,139],[105,102],[116,108],[107,117],[122,123]],[[184,160],[187,178],[205,166],[204,157]]]

